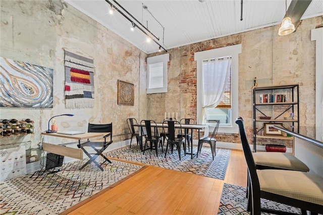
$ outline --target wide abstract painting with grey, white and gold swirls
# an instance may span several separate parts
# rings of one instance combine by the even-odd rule
[[[52,108],[53,69],[0,57],[0,106]]]

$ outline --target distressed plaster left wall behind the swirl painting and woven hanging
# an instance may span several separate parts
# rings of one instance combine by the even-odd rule
[[[0,148],[37,148],[48,119],[67,113],[75,116],[58,117],[61,130],[87,131],[88,123],[112,122],[114,142],[130,138],[126,119],[145,118],[147,112],[146,54],[63,1],[0,1],[0,5],[0,56],[54,71],[52,109],[0,108],[0,119],[35,122],[34,135],[0,138]],[[64,49],[94,59],[93,109],[65,108]],[[134,106],[117,104],[118,79],[134,84]],[[31,150],[29,157],[37,156],[37,150]]]

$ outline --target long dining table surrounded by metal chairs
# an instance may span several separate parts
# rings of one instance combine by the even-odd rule
[[[200,130],[204,130],[204,135],[202,138],[205,138],[208,136],[208,125],[196,125],[196,124],[181,124],[182,129],[185,130],[185,135],[186,135],[186,129],[191,129],[191,133],[193,136],[193,130],[197,130],[198,132],[198,139],[200,139]],[[134,126],[141,127],[140,124],[136,124]],[[144,124],[143,124],[144,126]],[[156,123],[157,128],[163,128],[163,123]],[[168,127],[168,125],[164,124],[165,127]],[[154,125],[151,125],[151,127],[154,127]],[[179,126],[175,124],[175,127],[178,128]],[[141,132],[141,129],[139,129],[139,134]],[[141,134],[140,134],[141,136]],[[142,141],[142,138],[140,138],[140,141]],[[185,143],[186,143],[186,138],[185,138]],[[140,143],[142,147],[142,142]],[[191,141],[191,152],[187,153],[191,155],[191,159],[196,155],[196,153],[193,153],[193,142]]]

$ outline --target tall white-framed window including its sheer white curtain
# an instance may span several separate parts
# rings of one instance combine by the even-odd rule
[[[197,71],[197,104],[196,104],[196,118],[198,124],[209,125],[210,131],[215,127],[212,120],[220,120],[221,124],[219,127],[220,133],[238,133],[238,127],[234,120],[238,117],[238,79],[239,79],[239,53],[242,52],[241,44],[225,46],[221,48],[214,48],[205,51],[199,51],[194,53],[194,60],[196,61],[196,71]],[[209,78],[204,78],[206,74],[203,74],[203,69],[205,70],[206,64],[211,64],[211,60],[217,62],[224,66],[226,60],[225,57],[231,57],[231,63],[228,64],[226,68],[228,69],[227,79],[221,81],[222,84],[217,86],[217,93],[207,93],[211,97],[205,97],[204,89],[208,92],[210,90],[208,87],[205,88],[204,80]],[[220,77],[217,80],[210,81],[209,86],[218,85]],[[213,87],[212,87],[213,88]],[[219,95],[219,91],[222,92]],[[217,96],[215,96],[217,94]],[[217,99],[217,102],[209,103],[212,99]]]

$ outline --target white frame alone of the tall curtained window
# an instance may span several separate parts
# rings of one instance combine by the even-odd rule
[[[199,51],[194,53],[194,61],[196,61],[196,71],[197,71],[197,105],[196,105],[196,113],[197,119],[200,118],[200,113],[202,109],[202,101],[201,93],[202,93],[202,62],[206,59],[212,58],[221,58],[224,56],[231,56],[231,126],[219,126],[220,133],[238,133],[238,126],[234,123],[234,120],[238,118],[238,111],[239,111],[239,86],[238,86],[238,79],[239,79],[239,53],[242,52],[242,45],[231,45],[227,47],[221,48],[214,48],[205,51]],[[215,126],[210,125],[210,130],[213,130]]]

